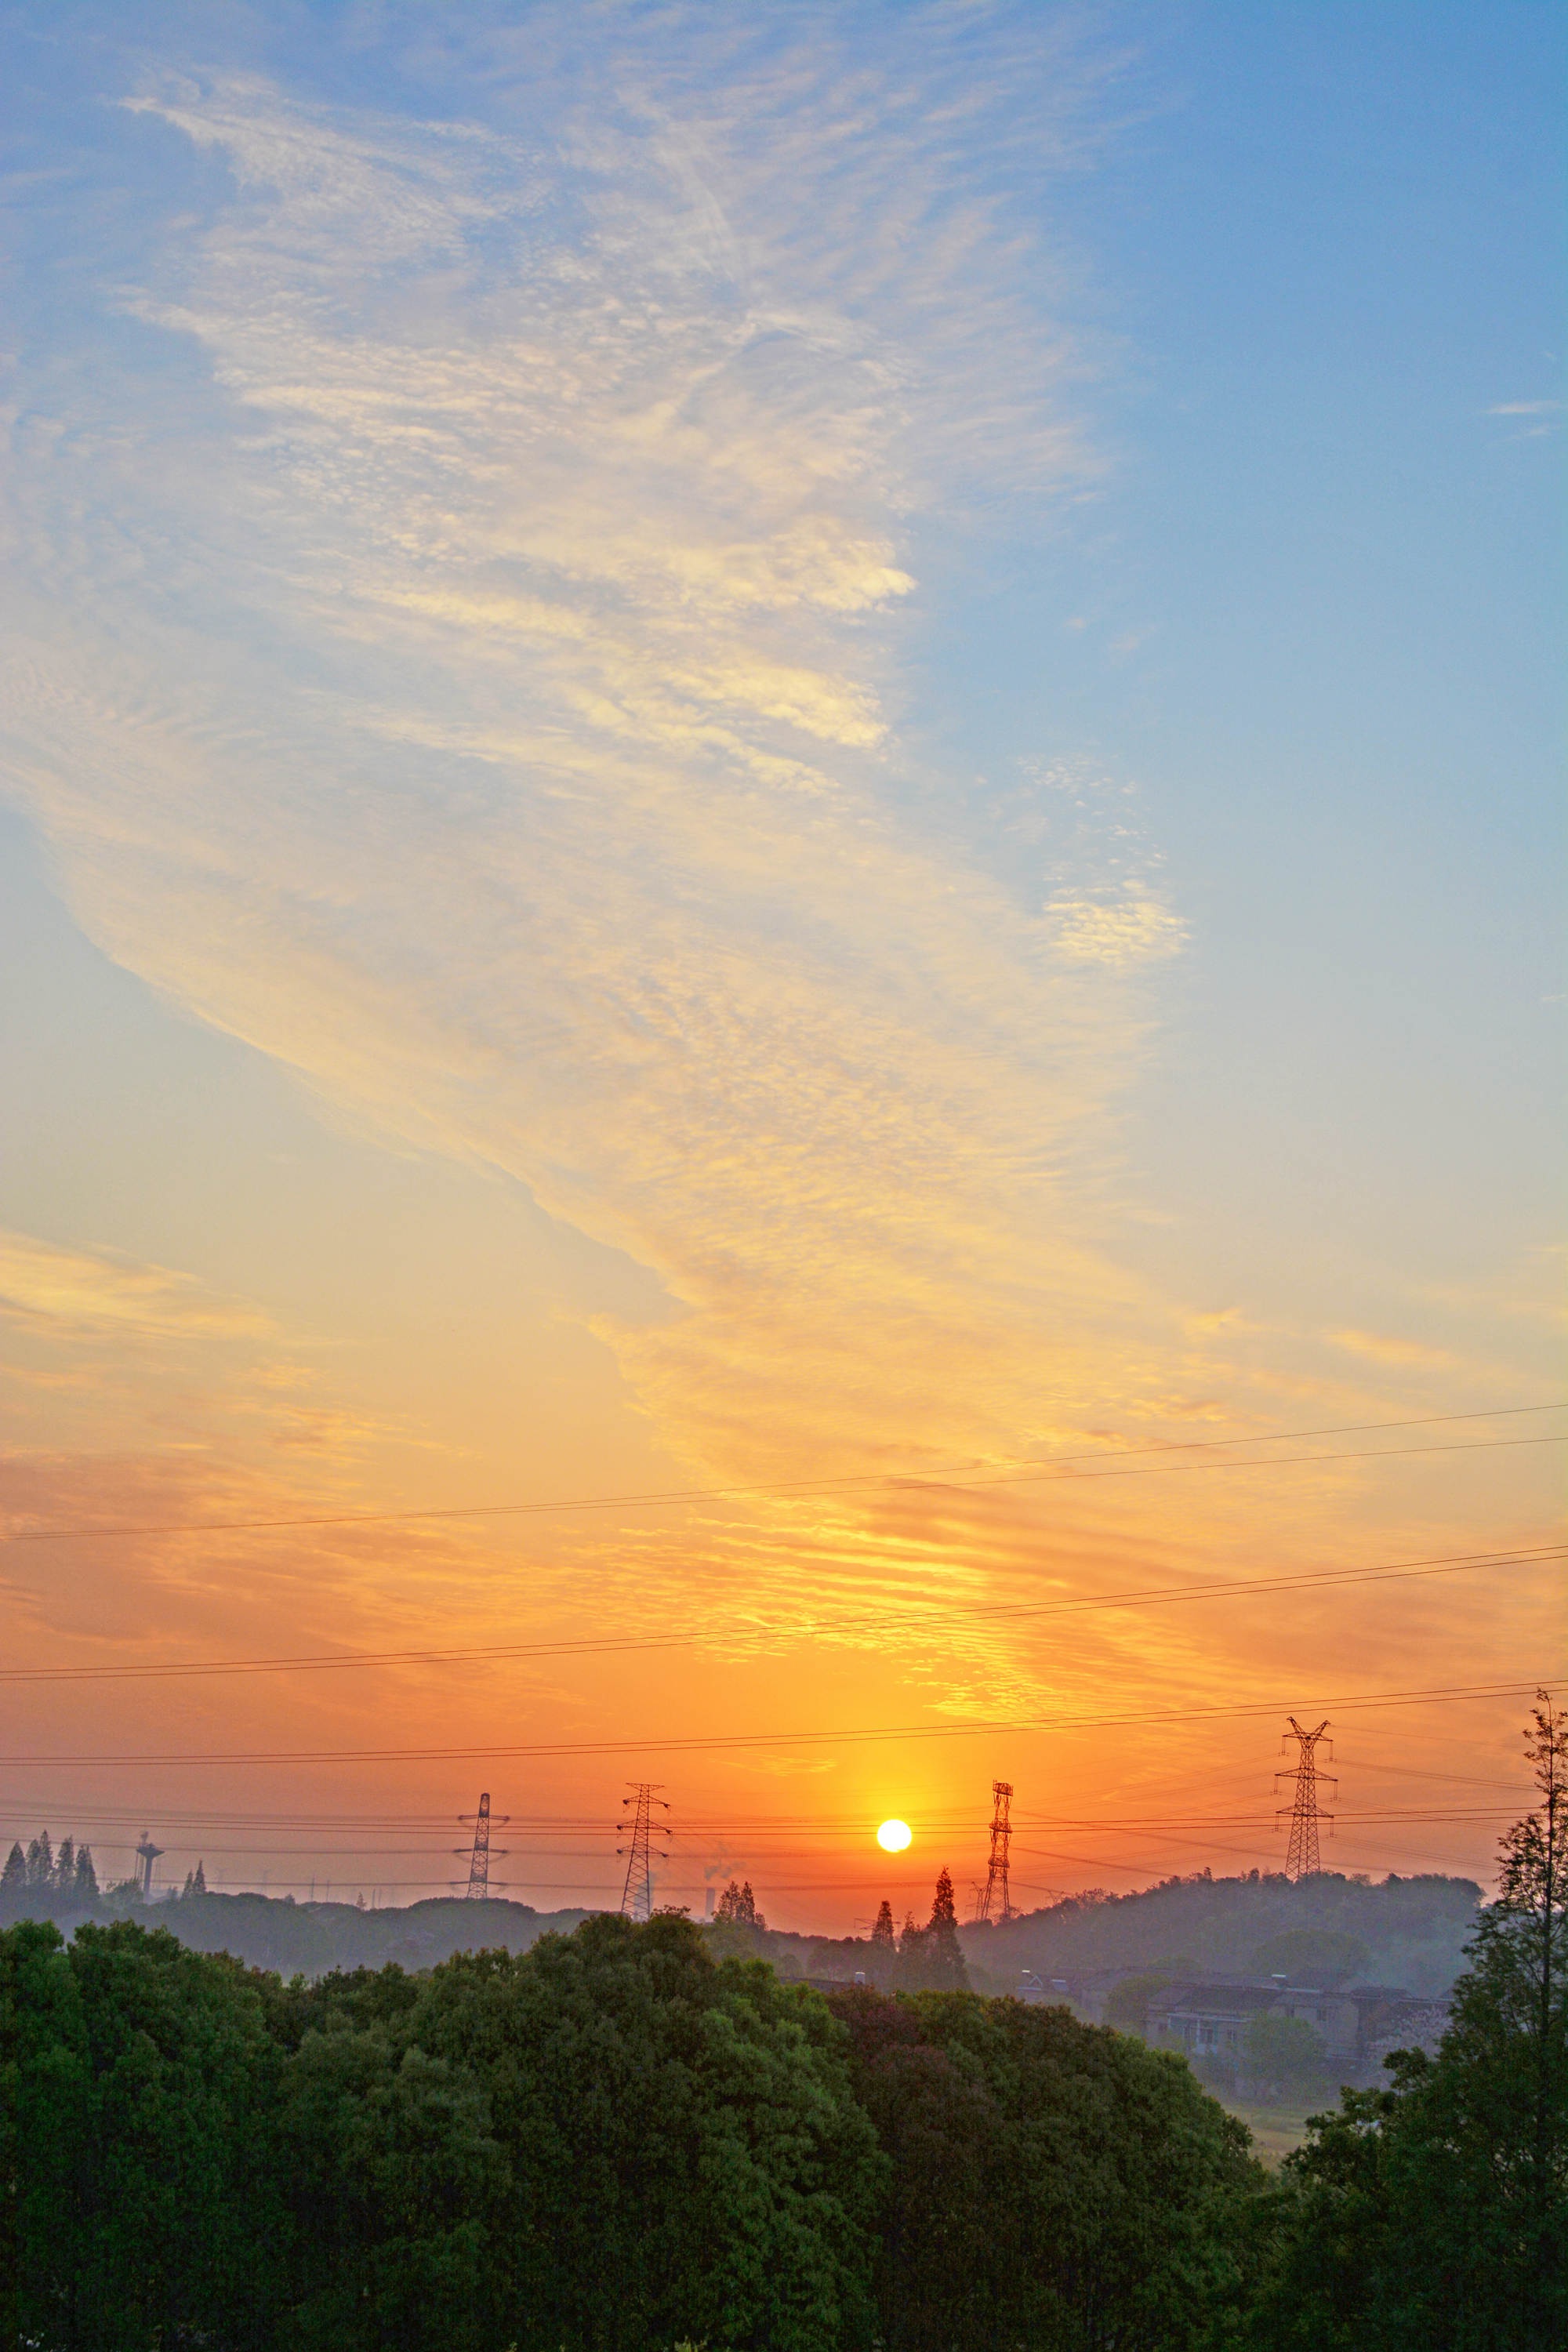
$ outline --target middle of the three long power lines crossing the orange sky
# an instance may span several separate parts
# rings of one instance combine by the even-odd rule
[[[759,1625],[755,1618],[731,1618],[705,1628],[701,1635],[654,1635],[609,1642],[475,1642],[465,1649],[367,1649],[331,1651],[299,1658],[209,1658],[165,1661],[150,1665],[14,1665],[0,1668],[0,1682],[146,1682],[146,1679],[195,1679],[200,1675],[294,1675],[329,1672],[348,1668],[388,1665],[473,1665],[480,1661],[510,1658],[597,1658],[646,1649],[691,1649],[698,1642],[733,1639],[736,1635],[830,1635],[842,1639],[851,1632],[931,1632],[943,1625],[985,1623],[992,1618],[1056,1616],[1086,1609],[1131,1609],[1138,1604],[1185,1602],[1185,1599],[1237,1599],[1241,1595],[1309,1592],[1324,1585],[1396,1583],[1413,1576],[1453,1576],[1460,1569],[1528,1566],[1533,1562],[1561,1559],[1563,1543],[1516,1545],[1497,1552],[1441,1552],[1427,1559],[1392,1559],[1366,1569],[1321,1569],[1300,1576],[1234,1576],[1208,1578],[1192,1585],[1138,1585],[1126,1592],[1079,1595],[1056,1602],[976,1602],[959,1609],[910,1611],[903,1618],[877,1611],[877,1616],[835,1618],[823,1625]]]

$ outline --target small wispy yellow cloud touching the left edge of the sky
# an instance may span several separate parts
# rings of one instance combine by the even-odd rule
[[[0,1232],[0,1315],[59,1338],[259,1338],[266,1315],[190,1275]]]

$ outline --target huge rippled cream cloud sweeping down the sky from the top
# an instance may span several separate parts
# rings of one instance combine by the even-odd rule
[[[654,1268],[604,1336],[726,1468],[1154,1378],[1079,1178],[1180,920],[1020,903],[898,739],[919,517],[1093,473],[973,59],[616,68],[548,139],[150,94],[233,188],[118,301],[200,367],[110,421],[87,355],[19,452],[9,764],[85,924]]]

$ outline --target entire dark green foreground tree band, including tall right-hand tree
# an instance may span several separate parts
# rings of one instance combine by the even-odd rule
[[[1434,2058],[1276,2176],[1063,2006],[818,1992],[679,1915],[306,1983],[0,1933],[0,2343],[1523,2352],[1568,2340],[1563,1722]]]

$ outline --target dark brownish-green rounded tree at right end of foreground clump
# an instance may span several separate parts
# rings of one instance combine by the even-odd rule
[[[973,1992],[827,1999],[891,2164],[889,2352],[1237,2343],[1262,2173],[1185,2060]]]

